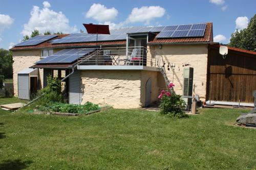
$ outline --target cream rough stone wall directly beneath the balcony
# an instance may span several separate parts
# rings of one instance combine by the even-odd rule
[[[140,70],[83,70],[82,104],[111,105],[114,108],[139,108]]]

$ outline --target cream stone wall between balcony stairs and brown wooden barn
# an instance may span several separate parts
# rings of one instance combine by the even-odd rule
[[[175,64],[175,72],[178,75],[181,83],[183,84],[183,68],[194,68],[194,81],[196,85],[195,93],[200,96],[202,101],[206,97],[206,78],[207,78],[207,56],[208,56],[208,44],[173,44],[162,45],[162,49],[158,46],[150,46],[151,49],[156,50],[157,54],[164,53],[169,62]],[[167,63],[167,62],[166,62]],[[190,65],[184,66],[185,63]],[[165,64],[165,70],[170,82],[174,82],[175,91],[178,94],[183,94],[182,88],[179,85],[176,77],[173,75],[172,70],[167,70],[167,64]]]

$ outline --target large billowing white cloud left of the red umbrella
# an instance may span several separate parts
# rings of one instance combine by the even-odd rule
[[[69,26],[69,19],[62,12],[55,12],[50,10],[51,5],[48,2],[44,2],[45,8],[40,9],[34,6],[30,12],[30,19],[28,23],[24,24],[24,29],[21,32],[22,35],[30,35],[34,29],[39,30],[40,33],[45,31],[50,32],[63,32],[74,33],[77,32],[76,26]]]

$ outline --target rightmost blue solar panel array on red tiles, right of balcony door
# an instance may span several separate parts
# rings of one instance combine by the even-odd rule
[[[156,38],[203,37],[206,23],[166,26]]]

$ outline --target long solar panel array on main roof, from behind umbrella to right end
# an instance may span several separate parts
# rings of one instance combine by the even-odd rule
[[[161,27],[137,27],[110,30],[110,35],[99,34],[98,39],[96,34],[77,33],[70,34],[66,37],[53,41],[53,44],[58,43],[76,43],[76,42],[95,42],[95,41],[115,41],[125,40],[127,34],[130,33],[148,33],[160,32],[156,38],[181,38],[181,37],[203,37],[206,28],[206,23],[177,25],[177,26],[161,26]]]

